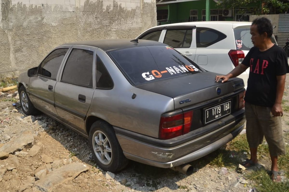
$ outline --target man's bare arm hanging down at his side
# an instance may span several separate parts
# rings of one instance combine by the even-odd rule
[[[285,87],[285,79],[286,75],[278,75],[277,77],[277,89],[276,89],[276,99],[275,104],[272,107],[272,114],[273,116],[283,116],[283,110],[282,110],[282,97],[284,93],[284,87]]]

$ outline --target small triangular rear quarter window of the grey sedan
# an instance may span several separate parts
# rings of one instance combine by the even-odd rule
[[[113,87],[113,82],[108,74],[108,71],[106,70],[103,62],[97,58],[96,59],[96,86],[97,88],[112,88]]]

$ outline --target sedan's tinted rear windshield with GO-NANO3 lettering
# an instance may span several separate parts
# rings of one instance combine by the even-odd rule
[[[165,45],[134,47],[108,54],[132,85],[201,72],[197,64]]]

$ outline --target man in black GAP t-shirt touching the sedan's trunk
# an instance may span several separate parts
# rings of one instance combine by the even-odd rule
[[[245,95],[246,132],[251,159],[244,162],[246,168],[257,163],[257,147],[265,136],[271,156],[271,179],[280,182],[277,158],[286,153],[282,137],[281,102],[285,87],[286,73],[289,73],[285,51],[272,43],[273,27],[267,18],[252,22],[250,33],[254,47],[242,64],[227,75],[217,75],[216,82],[222,83],[237,77],[250,67]]]

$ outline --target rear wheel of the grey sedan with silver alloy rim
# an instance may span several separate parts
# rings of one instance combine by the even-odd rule
[[[128,159],[118,143],[114,129],[105,121],[96,121],[89,131],[89,145],[96,164],[104,171],[118,172]]]

